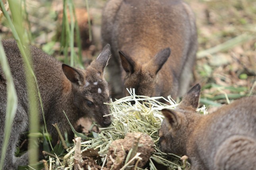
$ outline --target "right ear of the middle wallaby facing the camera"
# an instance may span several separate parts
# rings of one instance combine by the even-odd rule
[[[162,68],[164,63],[166,63],[167,59],[169,58],[171,54],[171,49],[169,47],[162,49],[159,51],[154,58],[152,58],[148,64],[147,68],[148,70],[152,70],[155,74],[158,73],[158,71]]]

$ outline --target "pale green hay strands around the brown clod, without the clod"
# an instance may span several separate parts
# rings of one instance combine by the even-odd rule
[[[114,140],[123,139],[128,132],[142,132],[148,134],[154,141],[154,153],[149,160],[149,169],[156,170],[157,164],[169,167],[169,169],[184,169],[180,157],[174,154],[166,154],[160,150],[158,130],[161,127],[164,115],[161,111],[163,108],[174,109],[176,104],[170,97],[166,100],[169,105],[158,102],[158,99],[163,97],[147,97],[137,96],[134,91],[130,92],[131,96],[121,98],[119,100],[106,103],[110,105],[112,115],[112,124],[106,128],[100,128],[101,132],[93,133],[94,138],[90,138],[81,143],[81,153],[88,149],[95,149],[102,156],[100,165],[106,163],[106,154],[109,146]],[[131,104],[135,101],[135,104]],[[206,114],[205,108],[201,108]],[[106,115],[109,116],[109,115]],[[69,153],[64,157],[64,161],[68,162],[68,167],[73,166],[75,147],[69,148]],[[57,161],[58,162],[58,161]],[[65,163],[58,163],[65,164]],[[56,167],[57,168],[57,167]],[[60,167],[58,167],[60,168]],[[58,169],[57,168],[57,169]]]

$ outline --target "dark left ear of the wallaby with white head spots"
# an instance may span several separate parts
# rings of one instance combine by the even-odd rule
[[[81,85],[82,76],[75,68],[62,64],[62,70],[69,81],[76,83],[77,85]]]

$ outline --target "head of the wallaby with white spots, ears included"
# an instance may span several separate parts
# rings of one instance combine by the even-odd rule
[[[96,60],[86,70],[72,68],[62,64],[62,70],[71,82],[73,102],[79,110],[78,115],[87,115],[95,119],[101,127],[111,123],[110,108],[104,103],[110,102],[108,83],[104,79],[104,68],[110,57],[110,45],[106,45]]]

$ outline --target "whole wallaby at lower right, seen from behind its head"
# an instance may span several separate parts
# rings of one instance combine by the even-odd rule
[[[187,155],[191,170],[255,170],[256,96],[241,98],[208,115],[196,113],[200,85],[175,110],[162,110],[162,151]]]

